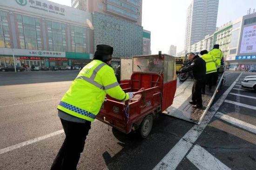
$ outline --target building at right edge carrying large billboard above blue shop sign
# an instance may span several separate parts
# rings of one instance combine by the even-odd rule
[[[233,22],[226,65],[232,69],[256,70],[256,13]]]

